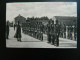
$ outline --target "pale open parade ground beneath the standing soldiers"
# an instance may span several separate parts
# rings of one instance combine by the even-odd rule
[[[77,48],[77,41],[60,39],[59,47],[47,43],[47,35],[44,35],[43,41],[30,37],[22,33],[22,42],[14,38],[15,31],[10,28],[9,39],[6,40],[6,47],[9,48]]]

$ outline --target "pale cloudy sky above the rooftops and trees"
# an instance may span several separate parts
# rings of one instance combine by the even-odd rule
[[[6,21],[13,21],[18,15],[27,17],[76,16],[76,2],[18,2],[6,3]]]

